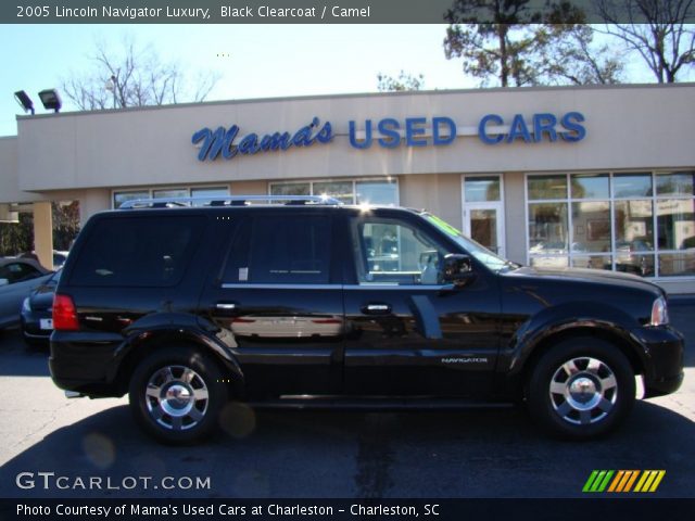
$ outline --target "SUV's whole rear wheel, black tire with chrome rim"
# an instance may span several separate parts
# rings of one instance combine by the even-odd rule
[[[227,385],[216,361],[193,346],[155,351],[137,366],[128,397],[138,424],[157,441],[191,444],[217,427]]]

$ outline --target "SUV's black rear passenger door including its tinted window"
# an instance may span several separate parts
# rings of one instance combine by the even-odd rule
[[[233,335],[247,382],[278,395],[340,392],[344,313],[331,216],[298,208],[219,226],[231,241],[203,298]]]

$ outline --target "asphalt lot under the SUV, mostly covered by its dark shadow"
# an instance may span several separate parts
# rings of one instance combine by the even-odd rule
[[[3,331],[0,497],[581,497],[592,470],[664,469],[654,495],[693,498],[694,317],[695,300],[671,307],[687,338],[682,389],[639,402],[611,437],[580,444],[545,437],[514,408],[378,414],[236,406],[235,420],[206,444],[167,447],[135,427],[125,398],[64,398],[49,378],[47,353],[26,348],[16,330]],[[25,474],[21,488],[23,472],[34,478]],[[74,486],[92,479],[102,480],[101,488]]]

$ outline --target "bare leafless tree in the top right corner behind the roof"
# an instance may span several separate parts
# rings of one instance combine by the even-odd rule
[[[695,64],[695,0],[596,0],[604,33],[646,62],[659,84],[672,84]]]

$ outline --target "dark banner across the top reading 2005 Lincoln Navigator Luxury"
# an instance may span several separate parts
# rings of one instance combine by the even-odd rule
[[[657,0],[685,10],[695,2]],[[636,0],[15,0],[0,2],[2,24],[446,24],[644,23]],[[668,15],[669,13],[662,13]]]

